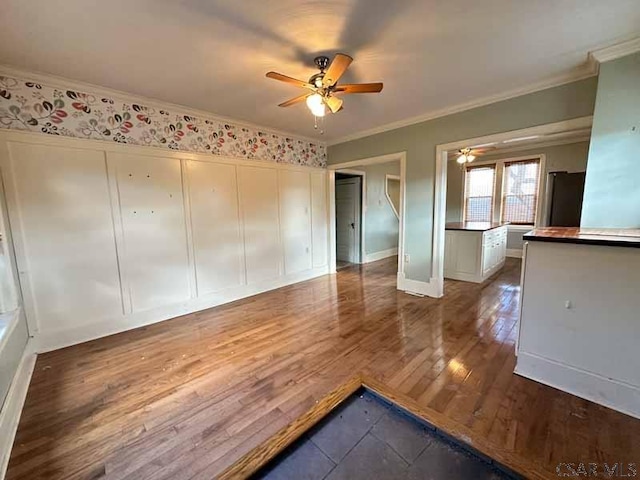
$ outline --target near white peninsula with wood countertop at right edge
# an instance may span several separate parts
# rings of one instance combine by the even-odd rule
[[[640,418],[640,230],[523,238],[516,373]]]

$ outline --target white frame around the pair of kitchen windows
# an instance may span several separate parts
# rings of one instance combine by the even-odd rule
[[[493,215],[492,220],[500,222],[503,214],[503,192],[505,188],[505,165],[507,163],[518,163],[526,160],[538,160],[540,165],[540,173],[538,175],[538,197],[536,200],[536,215],[534,223],[531,225],[513,224],[509,225],[510,230],[524,230],[529,231],[533,227],[540,227],[543,225],[543,218],[546,218],[546,211],[543,211],[544,205],[544,193],[546,189],[546,181],[543,180],[546,172],[546,155],[544,153],[538,153],[535,155],[521,155],[518,157],[500,158],[497,160],[481,160],[475,161],[465,165],[462,172],[462,220],[466,221],[466,196],[467,196],[467,170],[468,167],[495,165],[495,178],[493,187]]]

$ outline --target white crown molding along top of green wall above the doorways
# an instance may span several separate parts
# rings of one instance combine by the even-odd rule
[[[592,62],[586,62],[582,68],[572,73],[559,75],[547,80],[543,80],[541,82],[532,83],[525,87],[508,90],[506,92],[502,92],[496,95],[489,95],[476,100],[472,100],[470,102],[460,103],[452,107],[447,107],[440,110],[432,110],[430,112],[423,113],[422,115],[406,118],[404,120],[399,120],[397,122],[387,123],[385,125],[374,127],[368,130],[363,130],[361,132],[357,132],[351,135],[345,135],[344,137],[336,138],[334,140],[329,140],[327,142],[327,146],[350,142],[352,140],[369,137],[377,133],[383,133],[389,130],[395,130],[398,128],[407,127],[409,125],[415,125],[416,123],[422,123],[428,120],[433,120],[440,117],[446,117],[447,115],[452,115],[454,113],[460,113],[466,110],[472,110],[474,108],[484,107],[486,105],[491,105],[492,103],[498,103],[504,100],[509,100],[511,98],[521,97],[523,95],[539,92],[541,90],[546,90],[548,88],[559,87],[561,85],[566,85],[568,83],[573,83],[573,82],[577,82],[578,80],[584,80],[585,78],[596,76],[597,74],[598,74],[598,70],[596,68],[596,64]]]

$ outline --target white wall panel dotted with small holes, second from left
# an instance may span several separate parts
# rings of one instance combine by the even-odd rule
[[[108,153],[118,179],[134,312],[191,297],[180,160]]]

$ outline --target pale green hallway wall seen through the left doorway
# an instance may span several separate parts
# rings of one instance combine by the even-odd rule
[[[366,172],[365,253],[380,254],[398,248],[399,220],[385,193],[386,175],[400,175],[400,162],[358,167]]]

